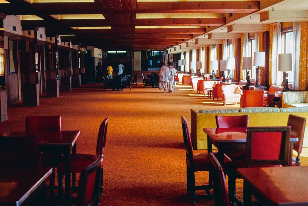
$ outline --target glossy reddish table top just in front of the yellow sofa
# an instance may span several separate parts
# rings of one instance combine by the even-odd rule
[[[246,142],[247,128],[233,127],[233,128],[203,128],[203,131],[208,135],[211,142]],[[298,138],[291,137],[290,141],[298,141]]]

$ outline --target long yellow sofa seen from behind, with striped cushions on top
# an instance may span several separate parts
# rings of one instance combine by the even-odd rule
[[[286,126],[290,114],[308,119],[308,107],[245,107],[240,109],[201,110],[191,109],[191,138],[193,149],[208,149],[207,135],[203,128],[216,128],[216,115],[249,115],[249,126]],[[308,147],[308,125],[305,128],[303,147]]]

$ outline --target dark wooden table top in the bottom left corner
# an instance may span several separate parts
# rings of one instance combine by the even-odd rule
[[[52,173],[52,168],[0,170],[0,205],[21,205]]]

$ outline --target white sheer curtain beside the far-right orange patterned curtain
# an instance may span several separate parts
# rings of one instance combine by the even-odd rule
[[[293,36],[294,36],[294,57],[293,60],[293,90],[298,90],[298,81],[299,81],[299,53],[301,46],[301,23],[293,23]]]

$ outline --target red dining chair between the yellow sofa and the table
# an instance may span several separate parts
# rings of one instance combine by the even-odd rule
[[[216,125],[217,128],[231,128],[231,127],[248,127],[249,124],[249,115],[240,115],[240,116],[221,116],[216,115]],[[225,151],[225,154],[232,160],[244,160],[245,159],[245,150],[230,150]]]

